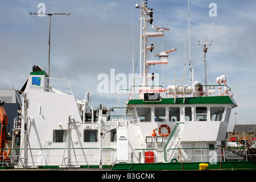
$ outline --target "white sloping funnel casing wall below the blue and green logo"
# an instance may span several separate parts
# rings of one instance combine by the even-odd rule
[[[31,80],[30,76],[30,79]],[[42,76],[43,80],[43,76]],[[66,143],[53,142],[53,130],[66,130],[69,115],[74,115],[75,122],[81,124],[81,115],[79,114],[77,102],[73,95],[57,94],[45,92],[43,88],[31,88],[28,82],[24,93],[27,93],[27,100],[29,107],[27,113],[27,129],[29,133],[29,156],[30,152],[33,158],[29,157],[29,165],[60,165],[63,160],[63,150],[47,150],[47,148],[65,148]],[[23,107],[21,141],[24,138],[24,115],[25,108]],[[79,142],[82,133],[73,129],[72,138],[77,138],[77,143],[82,147],[82,142]],[[21,147],[23,142],[21,143]],[[35,148],[42,148],[42,150],[35,150]],[[22,152],[22,155],[24,152]],[[66,151],[67,154],[67,151]],[[21,157],[22,158],[22,157]],[[84,160],[83,160],[84,161]]]

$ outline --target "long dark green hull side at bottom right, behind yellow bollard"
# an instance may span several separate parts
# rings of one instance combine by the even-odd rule
[[[123,171],[141,171],[141,170],[175,170],[175,171],[189,171],[199,170],[199,164],[205,162],[172,162],[172,163],[130,163],[130,164],[114,164],[112,170],[123,170]],[[207,170],[223,170],[223,171],[256,171],[256,163],[249,161],[240,162],[217,162],[217,164],[209,164]]]

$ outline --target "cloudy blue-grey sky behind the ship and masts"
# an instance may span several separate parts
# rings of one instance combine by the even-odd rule
[[[51,16],[50,77],[69,80],[77,98],[91,92],[94,107],[117,106],[118,94],[111,93],[111,88],[109,93],[99,93],[99,76],[107,75],[109,82],[114,79],[117,85],[119,73],[128,77],[132,72],[133,53],[138,73],[137,0],[2,0],[0,89],[13,89],[12,84],[21,89],[33,65],[47,71],[49,16],[29,14],[41,13],[42,3],[46,13],[71,13]],[[174,72],[182,78],[185,69],[186,84],[192,85],[188,1],[149,0],[148,7],[154,11],[152,25],[170,28],[162,38],[150,39],[153,53],[177,48],[169,54],[169,63],[164,68],[153,67],[154,72],[163,70],[160,77],[167,86],[174,85]],[[225,75],[238,104],[231,113],[229,130],[234,127],[234,112],[238,113],[238,125],[256,123],[255,7],[254,0],[190,0],[191,67],[195,80],[203,83],[203,47],[198,41],[204,44],[205,37],[212,40],[206,53],[207,84],[215,85],[215,78]]]

